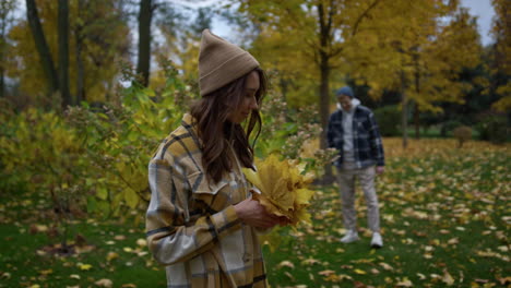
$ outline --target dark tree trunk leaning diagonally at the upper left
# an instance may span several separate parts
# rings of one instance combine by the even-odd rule
[[[39,14],[37,13],[35,0],[26,0],[26,17],[28,25],[31,26],[37,52],[40,58],[43,71],[46,76],[48,94],[56,93],[59,89],[57,72],[55,70],[54,60],[51,59],[51,53],[49,51],[48,44],[40,25]]]

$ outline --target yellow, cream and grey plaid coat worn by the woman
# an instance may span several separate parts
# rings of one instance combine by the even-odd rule
[[[146,236],[166,265],[167,287],[266,287],[255,230],[234,204],[249,196],[241,170],[209,182],[192,117],[159,145],[148,165]]]

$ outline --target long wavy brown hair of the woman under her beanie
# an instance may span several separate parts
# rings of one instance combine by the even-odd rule
[[[253,71],[259,74],[260,87],[255,93],[258,106],[266,94],[266,76],[260,68]],[[251,71],[252,72],[252,71]],[[246,82],[251,73],[230,82],[229,84],[207,94],[191,107],[191,115],[197,121],[198,136],[202,141],[202,166],[215,183],[222,179],[224,172],[233,169],[228,153],[228,142],[238,156],[241,166],[252,168],[253,146],[261,132],[261,116],[259,110],[252,110],[245,129],[239,123],[230,122],[227,117],[230,111],[238,109],[246,95]],[[249,139],[255,132],[252,145]]]

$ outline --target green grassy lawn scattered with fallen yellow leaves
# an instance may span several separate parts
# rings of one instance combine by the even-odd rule
[[[336,187],[319,188],[313,225],[265,236],[272,287],[509,287],[511,285],[510,145],[454,140],[385,139],[387,171],[377,182],[384,247],[369,247],[364,197],[361,240],[343,244]],[[360,192],[360,191],[359,191]],[[75,220],[81,243],[56,255],[45,199],[2,191],[0,287],[165,287],[147,254],[143,215]],[[134,215],[138,213],[133,212]],[[49,231],[48,231],[49,230]],[[50,247],[52,245],[52,247]],[[102,283],[103,279],[103,283]]]

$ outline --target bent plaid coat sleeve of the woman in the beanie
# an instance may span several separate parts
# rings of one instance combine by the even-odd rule
[[[214,214],[198,213],[189,205],[187,181],[174,157],[165,154],[148,165],[151,202],[146,236],[156,261],[169,265],[186,262],[207,250],[225,235],[240,228],[233,205]]]

